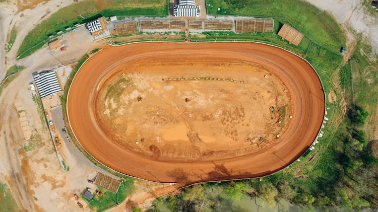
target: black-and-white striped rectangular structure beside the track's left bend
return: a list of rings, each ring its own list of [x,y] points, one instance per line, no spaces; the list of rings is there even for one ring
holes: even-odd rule
[[[61,91],[58,79],[56,78],[56,74],[53,70],[33,73],[33,78],[41,98]]]

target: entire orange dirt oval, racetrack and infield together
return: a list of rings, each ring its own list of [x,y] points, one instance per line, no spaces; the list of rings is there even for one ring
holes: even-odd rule
[[[313,68],[277,47],[138,43],[87,60],[67,106],[75,136],[98,161],[184,186],[287,167],[316,138],[324,101]]]

